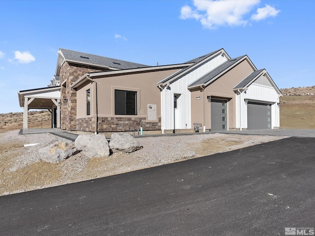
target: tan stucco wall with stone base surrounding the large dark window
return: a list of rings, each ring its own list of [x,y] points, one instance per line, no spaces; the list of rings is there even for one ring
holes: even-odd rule
[[[133,131],[140,127],[161,130],[160,89],[156,83],[176,71],[178,69],[93,78],[97,84],[97,132]],[[89,131],[87,127],[93,127],[93,124],[88,123],[95,122],[91,118],[96,117],[96,110],[86,116],[85,108],[87,89],[91,89],[91,109],[95,107],[95,83],[89,82],[77,90],[78,131]],[[137,115],[115,115],[115,89],[137,92]],[[148,104],[157,105],[157,119],[148,119]]]

